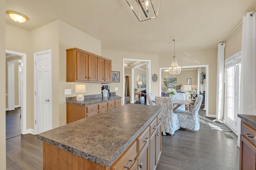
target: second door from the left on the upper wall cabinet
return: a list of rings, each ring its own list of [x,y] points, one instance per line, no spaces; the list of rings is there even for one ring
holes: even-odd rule
[[[97,57],[88,56],[88,81],[97,81]]]

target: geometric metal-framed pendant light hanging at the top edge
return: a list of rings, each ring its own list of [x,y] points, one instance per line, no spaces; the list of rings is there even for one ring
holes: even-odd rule
[[[156,18],[162,0],[126,0],[139,21]]]

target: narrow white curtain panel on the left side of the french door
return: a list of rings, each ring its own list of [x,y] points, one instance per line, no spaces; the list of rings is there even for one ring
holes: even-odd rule
[[[225,43],[218,44],[218,68],[217,68],[217,115],[214,121],[218,121],[223,123],[223,114],[224,114],[224,50],[225,50]]]

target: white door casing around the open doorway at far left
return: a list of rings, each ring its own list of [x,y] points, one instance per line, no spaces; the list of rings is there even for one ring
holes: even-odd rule
[[[27,98],[27,91],[26,91],[26,82],[27,82],[27,78],[26,78],[26,57],[27,55],[24,53],[19,53],[16,51],[10,51],[10,50],[6,50],[6,57],[12,57],[12,56],[20,56],[20,69],[21,69],[21,73],[20,73],[20,107],[22,109],[20,109],[20,114],[21,114],[21,134],[26,134],[28,133],[26,130],[26,98]],[[12,86],[12,83],[8,83],[8,86]],[[9,87],[7,87],[9,88]]]

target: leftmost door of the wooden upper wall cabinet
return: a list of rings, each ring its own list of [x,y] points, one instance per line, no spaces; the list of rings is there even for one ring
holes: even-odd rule
[[[88,81],[88,55],[77,51],[77,78],[76,80]]]

